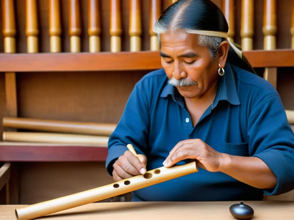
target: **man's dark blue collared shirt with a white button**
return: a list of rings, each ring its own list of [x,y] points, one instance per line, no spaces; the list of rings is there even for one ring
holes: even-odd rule
[[[222,172],[199,172],[132,192],[132,201],[262,200],[294,188],[294,134],[275,88],[262,77],[229,63],[213,104],[195,127],[163,69],[135,85],[108,142],[106,168],[132,144],[147,157],[147,170],[162,167],[170,150],[200,138],[219,152],[262,159],[278,178],[275,189],[256,189]],[[181,161],[178,165],[189,161]]]

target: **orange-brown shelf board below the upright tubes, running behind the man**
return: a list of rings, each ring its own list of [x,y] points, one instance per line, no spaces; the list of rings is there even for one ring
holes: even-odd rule
[[[253,67],[294,67],[294,50],[244,52]],[[162,68],[159,52],[0,54],[0,72],[121,71]]]

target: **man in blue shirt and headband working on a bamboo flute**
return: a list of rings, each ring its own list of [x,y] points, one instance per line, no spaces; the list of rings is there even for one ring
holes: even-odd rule
[[[132,192],[131,201],[262,200],[294,189],[294,134],[280,96],[227,37],[209,0],[158,19],[162,69],[142,77],[110,136],[114,181],[195,160],[199,172]],[[136,157],[126,145],[132,144]]]

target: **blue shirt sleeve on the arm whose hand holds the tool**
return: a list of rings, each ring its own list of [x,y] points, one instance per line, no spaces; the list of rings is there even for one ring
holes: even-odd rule
[[[138,81],[128,98],[116,129],[108,140],[106,170],[112,176],[113,163],[132,144],[137,154],[146,155],[149,131],[148,96],[144,81]]]

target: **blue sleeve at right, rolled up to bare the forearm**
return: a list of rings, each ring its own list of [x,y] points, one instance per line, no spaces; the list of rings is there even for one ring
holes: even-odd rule
[[[277,177],[266,195],[280,195],[294,189],[294,134],[280,96],[268,94],[253,108],[248,120],[250,156],[258,157]]]

